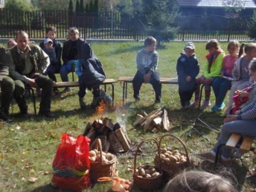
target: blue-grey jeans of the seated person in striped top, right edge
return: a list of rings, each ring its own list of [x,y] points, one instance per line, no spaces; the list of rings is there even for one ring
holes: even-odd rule
[[[225,123],[221,128],[221,135],[219,135],[218,142],[214,146],[213,151],[216,153],[218,146],[221,145],[221,143],[226,143],[232,133],[256,137],[255,123],[256,119],[237,120]],[[230,158],[231,149],[222,146],[221,152],[223,157]]]

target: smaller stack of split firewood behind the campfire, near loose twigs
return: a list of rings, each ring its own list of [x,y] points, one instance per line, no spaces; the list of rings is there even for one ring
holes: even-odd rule
[[[170,122],[168,114],[165,109],[157,109],[147,114],[145,111],[141,111],[141,114],[137,114],[137,117],[133,123],[133,126],[140,125],[144,131],[151,130],[152,133],[158,133],[158,131],[169,131]]]

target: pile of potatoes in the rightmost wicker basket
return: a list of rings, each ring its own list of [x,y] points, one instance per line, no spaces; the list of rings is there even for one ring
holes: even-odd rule
[[[165,159],[167,162],[173,162],[173,163],[185,163],[187,162],[187,158],[184,155],[181,155],[178,150],[167,150],[167,149],[161,149],[160,154],[161,159]]]

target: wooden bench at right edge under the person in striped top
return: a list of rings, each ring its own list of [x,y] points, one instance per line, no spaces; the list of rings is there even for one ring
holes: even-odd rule
[[[229,141],[226,143],[222,143],[218,146],[216,155],[215,155],[215,164],[218,163],[219,151],[221,147],[225,145],[225,147],[229,149],[238,148],[242,153],[248,153],[249,151],[253,151],[256,154],[256,147],[252,147],[254,137],[245,135],[244,137],[241,134],[233,133],[231,134]]]

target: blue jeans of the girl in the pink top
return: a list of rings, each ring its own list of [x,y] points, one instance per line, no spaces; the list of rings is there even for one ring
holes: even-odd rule
[[[231,87],[231,81],[227,81],[225,78],[217,77],[214,79],[213,84],[214,95],[215,95],[215,105],[221,107],[222,102],[224,101],[227,91]]]

